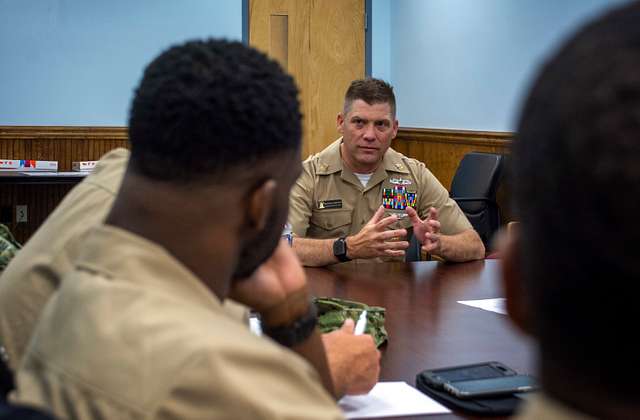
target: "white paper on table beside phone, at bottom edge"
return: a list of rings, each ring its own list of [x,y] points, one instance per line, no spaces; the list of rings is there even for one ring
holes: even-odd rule
[[[367,395],[347,395],[338,405],[348,419],[451,412],[406,382],[378,382]]]

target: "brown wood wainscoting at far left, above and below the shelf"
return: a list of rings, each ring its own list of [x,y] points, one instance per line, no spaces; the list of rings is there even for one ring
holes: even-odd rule
[[[71,162],[97,160],[111,149],[128,147],[126,127],[0,126],[0,158],[56,160],[59,171]],[[20,242],[26,240],[74,184],[0,183],[2,220]],[[27,223],[15,222],[15,206],[27,205]]]

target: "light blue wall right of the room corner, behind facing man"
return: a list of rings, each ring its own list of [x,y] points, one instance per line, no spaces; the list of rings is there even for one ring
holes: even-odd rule
[[[541,60],[585,18],[621,2],[393,0],[390,80],[400,125],[513,130]],[[374,17],[385,10],[382,4],[376,9],[374,3]],[[378,63],[373,74],[386,71]]]

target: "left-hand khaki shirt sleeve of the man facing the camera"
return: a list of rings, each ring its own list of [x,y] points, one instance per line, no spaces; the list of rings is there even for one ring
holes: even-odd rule
[[[309,219],[313,212],[313,190],[315,171],[310,160],[302,163],[302,174],[291,189],[289,196],[289,224],[296,236],[306,236]]]

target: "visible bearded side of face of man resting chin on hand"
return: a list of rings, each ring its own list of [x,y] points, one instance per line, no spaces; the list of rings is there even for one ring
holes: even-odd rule
[[[271,160],[273,162],[268,165],[272,167],[270,172],[277,182],[274,201],[264,230],[256,234],[255,241],[245,243],[241,250],[236,272],[233,275],[236,279],[249,277],[275,251],[287,222],[291,187],[302,171],[299,149],[282,153]]]

